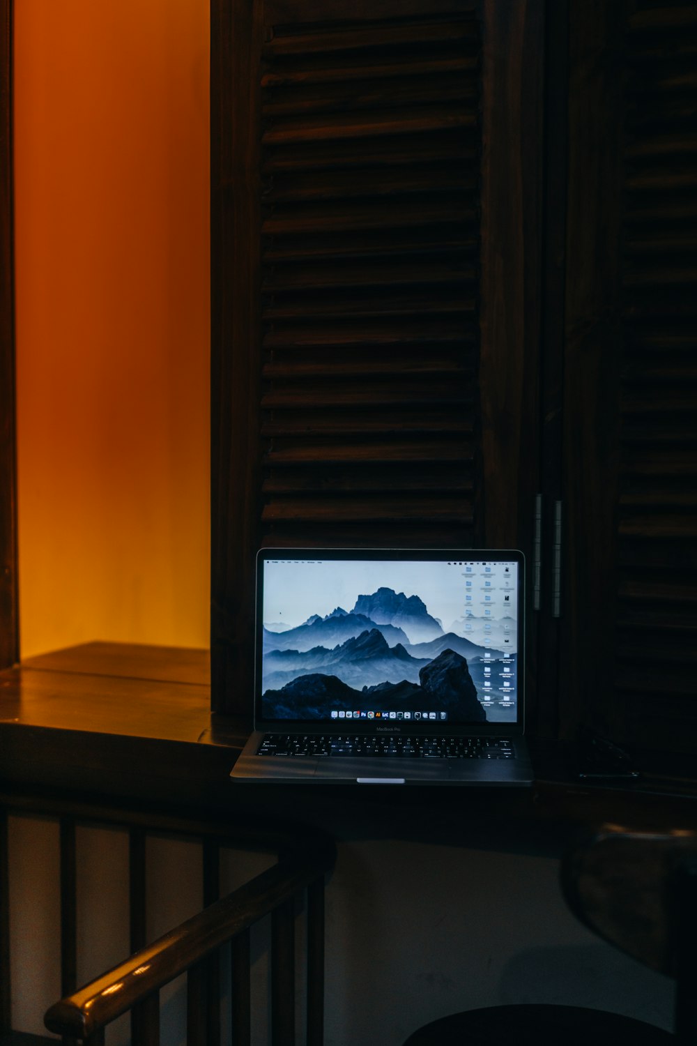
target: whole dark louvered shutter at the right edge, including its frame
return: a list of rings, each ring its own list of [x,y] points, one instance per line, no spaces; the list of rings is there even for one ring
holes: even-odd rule
[[[572,13],[562,720],[694,754],[697,5]]]

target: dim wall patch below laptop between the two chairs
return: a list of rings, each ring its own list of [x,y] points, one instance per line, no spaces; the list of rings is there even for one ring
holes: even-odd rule
[[[572,914],[556,857],[340,841],[327,892],[326,1046],[400,1046],[447,1014],[526,1002],[666,1028],[673,990]]]

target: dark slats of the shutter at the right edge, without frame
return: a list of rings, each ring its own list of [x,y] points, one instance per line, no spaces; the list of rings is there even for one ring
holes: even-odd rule
[[[694,753],[697,5],[637,4],[626,33],[618,713]]]

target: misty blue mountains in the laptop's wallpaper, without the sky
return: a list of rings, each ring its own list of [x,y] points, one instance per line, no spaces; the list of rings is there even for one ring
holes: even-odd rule
[[[502,680],[514,688],[515,655],[445,632],[418,596],[380,587],[351,610],[336,607],[277,629],[263,629],[264,719],[326,720],[332,710],[365,709],[444,711],[452,722],[515,718],[512,700],[509,708],[480,701]]]

